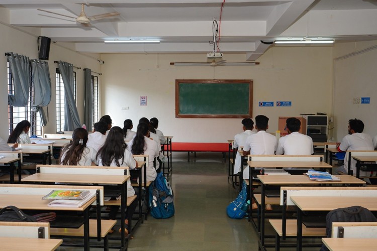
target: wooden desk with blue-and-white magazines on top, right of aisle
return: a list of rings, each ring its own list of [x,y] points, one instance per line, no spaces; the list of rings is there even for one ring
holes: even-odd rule
[[[310,163],[310,162],[308,162]],[[295,185],[312,185],[317,186],[321,184],[353,184],[353,185],[363,185],[366,182],[351,175],[336,175],[340,178],[340,181],[325,181],[325,182],[318,182],[315,180],[309,179],[307,175],[257,175],[258,179],[262,184],[261,189],[261,210],[260,210],[260,238],[262,245],[264,245],[264,230],[265,230],[265,194],[266,194],[266,187],[267,186],[295,186]],[[285,209],[283,208],[283,213],[285,213]],[[284,217],[285,218],[285,217]],[[258,219],[259,220],[259,219]],[[259,222],[258,222],[259,226]],[[285,233],[283,234],[285,236]]]

